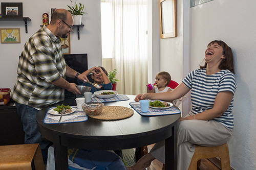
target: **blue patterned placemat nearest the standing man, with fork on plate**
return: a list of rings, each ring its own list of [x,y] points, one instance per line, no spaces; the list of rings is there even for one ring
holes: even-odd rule
[[[56,107],[51,107],[50,109],[48,109],[48,111],[46,113],[44,123],[45,124],[66,124],[66,123],[84,122],[84,121],[88,120],[88,117],[87,117],[86,113],[84,113],[82,109],[77,109],[76,106],[71,106],[71,107],[75,108],[76,111],[74,113],[68,114],[67,116],[72,116],[73,115],[73,116],[77,116],[77,117],[72,118],[70,120],[66,120],[65,122],[59,123],[58,120],[51,119],[51,117],[55,117],[55,115],[52,115],[48,112],[49,112],[49,110],[51,110],[53,108],[56,108]]]

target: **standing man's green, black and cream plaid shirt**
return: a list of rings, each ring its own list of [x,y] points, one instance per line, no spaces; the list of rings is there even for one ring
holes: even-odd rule
[[[65,79],[66,74],[60,38],[46,26],[30,37],[20,55],[17,74],[14,101],[40,110],[64,100],[64,89],[51,84],[60,77]]]

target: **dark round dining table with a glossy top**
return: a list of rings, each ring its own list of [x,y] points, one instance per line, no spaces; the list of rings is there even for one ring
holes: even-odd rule
[[[104,106],[124,106],[133,109],[135,95],[126,95],[127,101],[104,103]],[[87,150],[122,150],[136,148],[136,159],[143,154],[141,148],[165,140],[165,169],[177,169],[177,131],[180,114],[142,116],[134,114],[121,120],[99,120],[88,117],[85,122],[45,124],[50,107],[75,106],[74,98],[41,109],[36,120],[42,136],[54,143],[55,168],[68,169],[67,147]],[[175,106],[174,106],[175,107]],[[140,149],[140,150],[139,150]]]

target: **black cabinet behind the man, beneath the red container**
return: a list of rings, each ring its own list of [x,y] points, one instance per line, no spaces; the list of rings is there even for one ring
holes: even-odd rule
[[[0,145],[24,144],[24,131],[15,102],[0,105]]]

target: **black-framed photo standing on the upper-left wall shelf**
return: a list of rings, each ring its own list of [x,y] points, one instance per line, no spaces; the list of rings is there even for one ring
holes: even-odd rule
[[[22,3],[1,3],[3,18],[22,18]]]

